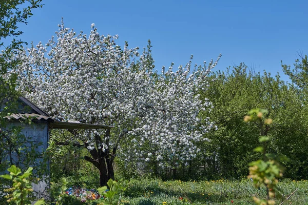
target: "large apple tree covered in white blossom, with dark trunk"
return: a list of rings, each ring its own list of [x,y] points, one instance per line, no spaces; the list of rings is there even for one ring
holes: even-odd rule
[[[208,118],[198,118],[211,104],[197,93],[208,86],[208,72],[220,56],[193,72],[189,61],[176,72],[171,65],[158,74],[150,44],[139,56],[138,48],[122,49],[117,38],[100,35],[94,24],[89,36],[76,34],[62,22],[47,44],[16,56],[22,61],[18,89],[55,119],[114,125],[111,132],[84,131],[70,139],[89,151],[85,159],[100,170],[101,186],[113,178],[115,153],[127,154],[121,144],[164,166],[196,156],[196,142],[206,140],[204,132],[213,127]]]

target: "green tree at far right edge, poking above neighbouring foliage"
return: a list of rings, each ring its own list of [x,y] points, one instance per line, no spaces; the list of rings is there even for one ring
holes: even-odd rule
[[[290,86],[296,90],[297,99],[293,104],[292,114],[284,116],[284,119],[289,119],[289,121],[285,120],[285,125],[295,129],[284,129],[284,132],[281,132],[281,136],[285,136],[287,133],[297,137],[290,138],[284,144],[281,143],[281,147],[284,148],[284,152],[288,151],[290,154],[290,163],[287,165],[286,172],[290,171],[293,178],[302,179],[306,178],[308,173],[306,162],[308,150],[304,146],[308,140],[308,57],[299,53],[299,58],[295,60],[294,67],[285,64],[281,66],[283,72],[292,80]]]

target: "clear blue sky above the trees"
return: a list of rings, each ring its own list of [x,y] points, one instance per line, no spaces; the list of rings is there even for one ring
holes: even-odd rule
[[[222,58],[215,70],[244,62],[256,71],[279,72],[308,54],[307,1],[99,1],[47,0],[33,12],[22,39],[47,43],[64,17],[65,26],[89,33],[119,34],[118,44],[152,42],[156,69],[171,62],[194,64]]]

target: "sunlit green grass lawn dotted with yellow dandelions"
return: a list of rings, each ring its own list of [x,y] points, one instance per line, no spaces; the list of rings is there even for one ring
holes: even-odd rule
[[[308,181],[282,180],[278,183],[276,204],[308,204]],[[241,181],[162,181],[131,179],[122,198],[123,204],[254,204],[253,196],[265,198],[265,189],[255,189],[250,180]],[[100,204],[102,200],[91,201]]]

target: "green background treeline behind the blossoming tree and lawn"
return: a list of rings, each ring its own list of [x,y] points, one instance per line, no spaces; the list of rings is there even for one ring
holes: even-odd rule
[[[269,152],[286,156],[285,178],[306,179],[308,176],[308,117],[306,109],[307,57],[296,60],[295,68],[282,65],[292,83],[281,80],[279,74],[255,72],[244,64],[210,74],[210,86],[200,91],[201,96],[213,103],[210,113],[200,113],[200,118],[210,117],[218,129],[209,132],[200,144],[201,152],[196,158],[176,162],[171,167],[159,168],[154,161],[129,160],[118,156],[115,162],[116,178],[158,176],[163,179],[239,179],[248,174],[248,163],[258,159],[253,149],[258,146],[258,127],[245,123],[243,116],[254,108],[268,110],[266,118],[273,119],[267,130],[272,141]],[[127,139],[127,141],[129,141]],[[128,149],[124,146],[121,149]],[[73,147],[55,148],[51,160],[51,173],[71,176],[82,182],[91,180],[98,173],[82,160],[82,150]],[[127,156],[126,156],[127,157]],[[89,172],[89,169],[91,171]],[[90,173],[90,174],[89,174]],[[87,177],[83,177],[83,176]]]

